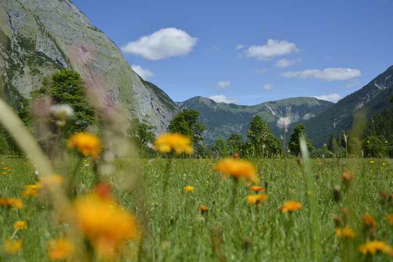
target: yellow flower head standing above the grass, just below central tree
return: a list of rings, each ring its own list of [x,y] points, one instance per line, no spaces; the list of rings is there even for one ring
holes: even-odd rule
[[[181,134],[161,134],[154,141],[154,149],[160,153],[169,153],[174,150],[176,154],[183,152],[191,155],[194,152],[191,139]]]

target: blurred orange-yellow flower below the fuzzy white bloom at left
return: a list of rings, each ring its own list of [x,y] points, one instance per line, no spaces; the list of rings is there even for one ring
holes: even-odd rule
[[[69,149],[78,148],[84,156],[94,158],[98,158],[101,153],[100,139],[96,135],[84,132],[72,135],[67,141],[67,147]]]

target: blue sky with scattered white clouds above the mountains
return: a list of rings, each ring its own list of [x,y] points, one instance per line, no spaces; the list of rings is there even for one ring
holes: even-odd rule
[[[393,0],[73,1],[174,101],[337,101],[393,65]]]

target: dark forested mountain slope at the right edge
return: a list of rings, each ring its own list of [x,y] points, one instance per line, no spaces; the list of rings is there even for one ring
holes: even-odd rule
[[[372,117],[377,112],[389,108],[392,94],[393,66],[358,91],[338,101],[317,118],[304,121],[307,135],[314,146],[322,146],[328,143],[331,134],[351,128],[355,111],[365,110],[366,116]]]

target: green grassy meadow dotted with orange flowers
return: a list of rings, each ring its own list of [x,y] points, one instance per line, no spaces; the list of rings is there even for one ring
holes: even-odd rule
[[[68,161],[74,165],[77,162]],[[116,163],[121,169],[126,162]],[[390,159],[313,159],[314,192],[307,191],[304,168],[296,159],[254,159],[268,201],[247,203],[247,195],[253,192],[250,185],[241,182],[235,206],[233,181],[222,180],[212,170],[215,162],[174,160],[164,196],[167,159],[141,159],[140,187],[114,190],[119,203],[138,214],[145,228],[141,261],[362,261],[370,259],[359,251],[367,240],[375,238],[393,244],[393,226],[386,219],[393,213],[393,202],[388,197],[385,203],[381,197],[381,191],[388,196],[392,193]],[[92,167],[89,160],[83,162],[78,172],[79,192],[92,186]],[[61,165],[57,168],[61,173]],[[22,198],[22,187],[35,182],[34,170],[26,159],[0,157],[0,197]],[[348,188],[342,183],[344,172],[354,174]],[[132,179],[130,170],[125,174]],[[186,193],[187,185],[194,186],[194,190]],[[338,203],[333,197],[336,185],[341,188]],[[318,228],[310,222],[308,198],[312,194],[317,198]],[[13,256],[2,254],[0,261],[47,261],[47,242],[67,231],[67,225],[54,223],[52,207],[40,197],[22,199],[23,209],[0,207],[1,242],[14,233],[14,222],[24,220],[28,225],[14,235],[23,241],[23,248]],[[287,200],[299,201],[303,208],[282,213],[280,206]],[[209,211],[202,214],[200,204]],[[342,212],[343,208],[346,211]],[[363,224],[365,214],[374,217],[376,231]],[[337,237],[335,215],[347,218],[356,233],[354,239]],[[320,231],[320,249],[309,238],[315,231]],[[131,243],[121,261],[138,260],[138,246]],[[390,259],[384,253],[373,256],[373,261]]]

